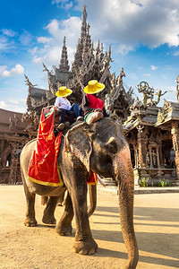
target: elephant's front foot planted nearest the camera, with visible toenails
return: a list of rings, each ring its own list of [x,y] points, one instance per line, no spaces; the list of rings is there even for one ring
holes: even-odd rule
[[[86,239],[85,241],[75,241],[72,251],[81,255],[91,255],[97,251],[98,245],[94,239]]]

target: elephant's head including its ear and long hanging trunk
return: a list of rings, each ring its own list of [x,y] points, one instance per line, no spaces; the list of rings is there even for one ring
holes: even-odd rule
[[[129,256],[127,268],[135,268],[138,247],[133,230],[134,180],[122,126],[108,117],[90,126],[82,123],[68,131],[65,145],[66,151],[72,152],[88,171],[92,169],[101,176],[114,178],[118,184],[121,225]]]

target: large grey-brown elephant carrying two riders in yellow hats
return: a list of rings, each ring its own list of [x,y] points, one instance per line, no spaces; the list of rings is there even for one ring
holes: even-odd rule
[[[36,140],[30,141],[21,152],[21,178],[27,200],[24,224],[37,225],[34,210],[36,194],[50,196],[43,221],[55,221],[55,204],[58,196],[67,189],[64,213],[55,230],[61,236],[72,234],[74,215],[76,234],[73,252],[94,254],[98,245],[90,231],[86,182],[91,169],[101,177],[113,178],[118,186],[121,227],[128,252],[126,268],[135,268],[139,252],[133,227],[134,177],[130,149],[121,124],[110,117],[103,117],[90,125],[76,122],[64,131],[58,166],[65,187],[43,186],[28,179],[28,167],[35,143]]]

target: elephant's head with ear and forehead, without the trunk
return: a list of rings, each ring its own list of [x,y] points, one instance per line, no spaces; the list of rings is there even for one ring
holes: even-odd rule
[[[114,178],[116,182],[120,178],[118,159],[126,158],[126,152],[129,153],[122,126],[111,118],[103,118],[92,125],[74,126],[65,135],[65,146],[88,171],[92,169],[101,176]]]

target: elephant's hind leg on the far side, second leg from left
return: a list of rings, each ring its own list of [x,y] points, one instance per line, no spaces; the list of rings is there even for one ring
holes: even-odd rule
[[[58,196],[50,196],[47,202],[47,206],[44,210],[44,216],[42,218],[42,221],[46,224],[55,224],[55,207],[56,203],[58,201]]]

